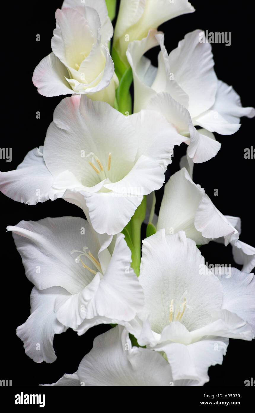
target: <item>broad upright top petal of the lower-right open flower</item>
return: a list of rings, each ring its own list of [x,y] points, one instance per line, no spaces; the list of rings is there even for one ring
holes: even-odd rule
[[[150,315],[154,332],[161,334],[169,325],[170,306],[176,316],[183,297],[187,309],[182,323],[189,331],[210,322],[211,312],[220,308],[222,286],[215,275],[201,269],[205,269],[204,257],[183,231],[165,235],[160,230],[143,240],[139,275],[145,294],[143,317]]]

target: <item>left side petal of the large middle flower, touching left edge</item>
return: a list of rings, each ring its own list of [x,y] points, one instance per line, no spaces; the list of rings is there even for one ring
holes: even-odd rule
[[[53,176],[45,165],[42,147],[28,152],[15,171],[0,173],[0,190],[7,197],[28,205],[49,199]]]

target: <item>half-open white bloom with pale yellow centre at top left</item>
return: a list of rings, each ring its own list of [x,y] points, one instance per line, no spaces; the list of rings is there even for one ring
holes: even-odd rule
[[[113,28],[104,0],[67,1],[56,11],[52,53],[35,68],[33,83],[44,96],[85,93],[113,105],[118,79],[108,50]]]

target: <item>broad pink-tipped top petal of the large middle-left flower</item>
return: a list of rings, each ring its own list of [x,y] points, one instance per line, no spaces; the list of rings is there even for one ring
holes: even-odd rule
[[[114,182],[131,170],[137,148],[136,131],[126,116],[105,102],[75,95],[63,99],[54,111],[45,139],[44,159],[54,177],[68,170],[83,185],[91,187],[98,183],[98,177],[86,158],[90,152],[94,152],[106,171],[109,153],[112,154],[109,173]]]

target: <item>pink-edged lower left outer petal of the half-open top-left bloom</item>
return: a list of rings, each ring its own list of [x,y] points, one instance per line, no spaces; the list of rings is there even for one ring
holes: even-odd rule
[[[68,77],[66,66],[50,53],[36,66],[33,73],[33,84],[43,96],[59,96],[73,93],[66,81]]]

